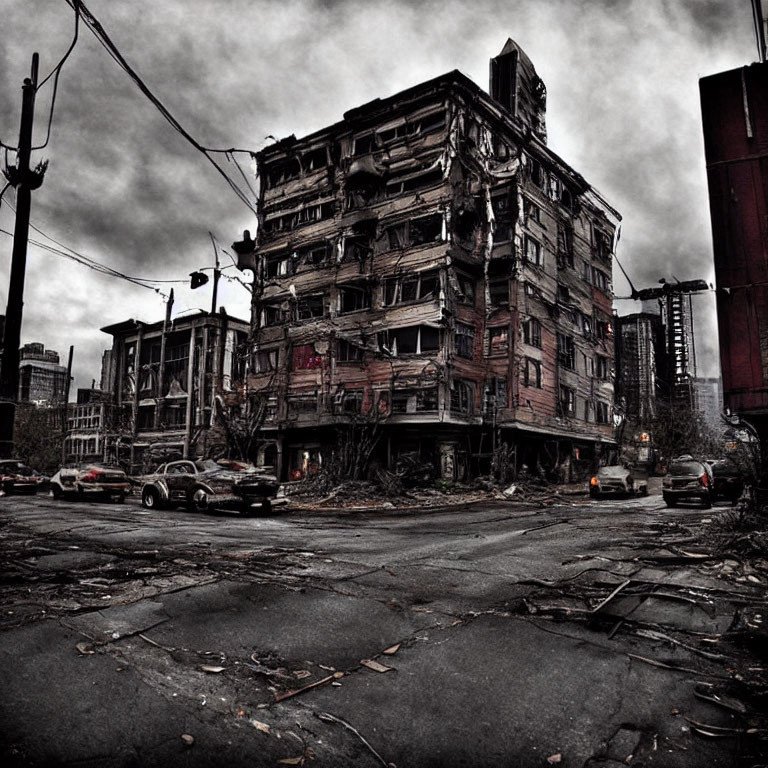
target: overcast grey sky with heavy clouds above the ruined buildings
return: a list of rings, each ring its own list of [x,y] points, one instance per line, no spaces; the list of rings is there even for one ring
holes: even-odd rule
[[[208,147],[258,150],[269,135],[302,136],[453,69],[487,88],[488,59],[512,37],[546,83],[550,147],[623,216],[618,257],[635,286],[673,275],[714,280],[698,79],[755,60],[750,0],[86,4]],[[15,145],[32,53],[40,53],[42,79],[71,41],[74,12],[65,0],[0,0],[0,19],[0,141]],[[38,94],[36,144],[44,140],[51,85]],[[239,157],[249,173],[247,157]],[[209,230],[228,247],[254,229],[248,208],[84,25],[61,72],[50,143],[33,156],[42,158],[50,166],[33,193],[32,223],[125,274],[187,279],[213,264]],[[11,191],[0,229],[12,231],[6,200],[14,203]],[[11,245],[0,233],[0,313]],[[240,276],[234,268],[224,274]],[[614,282],[616,295],[627,295],[616,267]],[[210,283],[173,287],[174,316],[210,309]],[[249,316],[248,292],[235,281],[222,280],[218,303]],[[700,375],[719,373],[713,308],[711,295],[695,301]],[[92,379],[98,386],[111,342],[99,328],[161,320],[164,312],[153,290],[30,247],[22,342],[41,341],[64,363],[73,344],[75,386]]]

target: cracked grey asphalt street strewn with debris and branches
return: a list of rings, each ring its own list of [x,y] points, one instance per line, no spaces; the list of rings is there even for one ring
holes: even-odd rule
[[[766,764],[768,574],[659,496],[0,499],[4,765]]]

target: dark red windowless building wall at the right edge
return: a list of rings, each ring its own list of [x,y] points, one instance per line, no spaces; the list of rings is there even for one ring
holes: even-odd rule
[[[725,407],[768,444],[768,62],[699,81]]]

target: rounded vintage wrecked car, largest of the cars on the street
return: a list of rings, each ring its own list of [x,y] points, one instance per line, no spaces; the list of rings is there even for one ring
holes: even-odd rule
[[[280,484],[274,475],[204,461],[171,461],[143,478],[141,503],[147,509],[186,506],[192,512],[233,510],[268,514]]]

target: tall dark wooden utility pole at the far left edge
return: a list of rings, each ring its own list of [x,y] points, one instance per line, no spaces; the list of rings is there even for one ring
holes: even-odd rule
[[[32,154],[32,124],[37,91],[37,53],[32,54],[32,72],[21,88],[21,126],[16,167],[8,169],[8,181],[16,188],[16,223],[13,231],[11,278],[8,285],[8,305],[5,311],[2,363],[0,365],[0,458],[13,454],[13,422],[19,396],[19,346],[21,318],[24,306],[24,276],[27,265],[29,212],[32,190],[43,182],[44,166],[34,171],[29,167]]]

